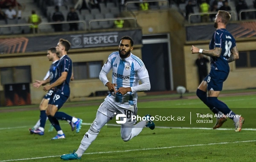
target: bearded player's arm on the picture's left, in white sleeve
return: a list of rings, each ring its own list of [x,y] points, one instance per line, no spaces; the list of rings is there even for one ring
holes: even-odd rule
[[[107,60],[106,63],[103,65],[102,70],[101,70],[100,73],[99,73],[99,80],[101,80],[102,83],[103,83],[106,87],[108,87],[108,90],[109,90],[110,92],[116,93],[116,89],[115,89],[116,84],[110,83],[110,82],[108,81],[108,77],[107,77],[107,74],[108,74],[108,72],[109,72],[111,69],[112,69],[111,61],[110,61],[109,58],[108,58],[108,60]]]

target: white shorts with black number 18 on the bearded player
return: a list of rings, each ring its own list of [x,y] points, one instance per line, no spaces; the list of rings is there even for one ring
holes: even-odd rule
[[[118,104],[118,105],[117,105]],[[115,103],[110,99],[106,98],[105,101],[99,106],[98,111],[103,113],[105,116],[113,119],[117,114],[125,114],[126,122],[122,125],[130,126],[136,124],[137,120],[131,119],[131,116],[137,116],[137,104],[129,105],[129,104],[121,104]],[[114,118],[114,120],[123,121],[124,118],[120,117],[120,119]]]

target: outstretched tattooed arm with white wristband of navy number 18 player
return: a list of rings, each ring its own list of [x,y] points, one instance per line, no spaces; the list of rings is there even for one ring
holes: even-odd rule
[[[222,49],[219,48],[219,47],[215,47],[214,49],[211,49],[211,50],[199,49],[195,46],[192,46],[192,48],[191,48],[192,54],[201,53],[201,54],[206,55],[206,56],[217,57],[217,58],[221,56],[221,50]]]

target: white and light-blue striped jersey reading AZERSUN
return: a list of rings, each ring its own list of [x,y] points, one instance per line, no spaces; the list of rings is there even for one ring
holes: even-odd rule
[[[112,69],[112,83],[117,84],[116,91],[120,87],[135,87],[139,81],[149,78],[148,71],[137,56],[131,55],[128,58],[120,58],[119,52],[113,52],[109,55],[107,62],[102,70],[108,73]],[[134,105],[137,104],[137,93],[128,92],[122,94],[109,94],[108,98],[117,103]]]

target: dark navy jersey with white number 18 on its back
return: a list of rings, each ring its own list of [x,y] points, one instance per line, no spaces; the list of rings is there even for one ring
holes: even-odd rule
[[[209,44],[209,49],[214,49],[215,47],[221,48],[221,56],[211,57],[211,69],[230,72],[230,67],[228,65],[228,59],[230,58],[230,50],[236,46],[236,40],[226,29],[218,29],[212,35],[212,40]]]

